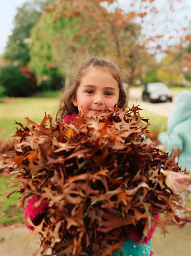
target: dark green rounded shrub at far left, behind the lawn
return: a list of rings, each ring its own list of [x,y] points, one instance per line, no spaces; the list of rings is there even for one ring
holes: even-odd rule
[[[5,88],[5,95],[11,97],[27,97],[37,90],[36,81],[26,78],[15,66],[2,67],[0,84]]]

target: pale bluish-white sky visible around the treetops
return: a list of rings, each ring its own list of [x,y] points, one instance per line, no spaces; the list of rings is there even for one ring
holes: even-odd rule
[[[14,28],[14,16],[17,7],[22,6],[24,2],[27,2],[27,0],[0,0],[0,54],[4,52],[8,36]],[[129,3],[132,3],[132,0],[118,0],[118,2],[121,4],[121,8],[129,11]],[[168,10],[167,2],[174,3],[175,12]],[[143,30],[144,34],[155,35],[164,32],[165,37],[162,38],[159,43],[164,47],[170,43],[168,40],[170,35],[173,35],[173,41],[171,41],[171,43],[178,43],[179,36],[183,33],[182,26],[189,26],[184,17],[187,16],[188,20],[191,20],[191,0],[156,0],[155,6],[160,10],[159,14],[153,16],[154,18],[152,15],[147,15],[147,18],[150,19],[147,21],[150,24],[155,24],[154,29],[146,25]],[[137,8],[139,8],[139,6],[137,6]],[[167,19],[173,21],[170,21],[167,25]]]

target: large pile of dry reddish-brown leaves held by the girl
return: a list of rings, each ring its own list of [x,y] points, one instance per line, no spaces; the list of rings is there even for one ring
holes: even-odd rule
[[[12,192],[21,194],[19,207],[30,196],[38,196],[36,207],[49,201],[38,226],[27,219],[34,227],[31,236],[40,234],[42,253],[51,248],[53,255],[112,255],[127,238],[122,227],[98,231],[107,214],[115,227],[120,217],[135,226],[144,219],[142,239],[156,224],[157,213],[179,221],[178,194],[191,178],[175,163],[179,151],[168,158],[144,142],[149,122],[138,107],[115,107],[97,120],[80,114],[76,123],[53,124],[46,114],[40,125],[26,119],[26,127],[17,123],[20,140],[6,168],[17,173],[13,186],[19,189]]]

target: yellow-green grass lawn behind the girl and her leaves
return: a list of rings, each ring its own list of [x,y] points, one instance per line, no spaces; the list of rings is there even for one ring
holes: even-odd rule
[[[0,104],[0,140],[10,139],[15,133],[16,125],[14,120],[26,124],[24,117],[28,116],[33,121],[40,123],[44,117],[45,111],[47,114],[54,114],[58,106],[58,94],[48,94],[46,98],[5,98],[5,101]],[[166,130],[167,118],[157,116],[149,111],[141,110],[141,116],[150,119],[151,128],[159,131]],[[11,181],[8,178],[0,177],[0,196],[5,195],[8,190],[6,184]],[[0,223],[12,224],[14,222],[23,222],[23,209],[17,210],[12,203],[18,200],[19,195],[13,194],[11,197],[0,203]]]

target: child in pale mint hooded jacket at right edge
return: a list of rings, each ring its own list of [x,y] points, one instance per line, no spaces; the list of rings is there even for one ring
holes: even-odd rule
[[[165,146],[169,154],[172,149],[180,149],[179,166],[191,171],[191,92],[182,91],[174,104],[168,118],[168,133],[161,133],[158,140]],[[181,194],[185,200],[185,193]],[[183,210],[179,216],[185,218]],[[185,222],[182,222],[182,226]]]

